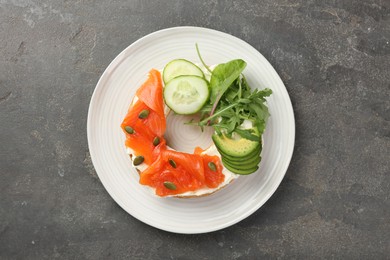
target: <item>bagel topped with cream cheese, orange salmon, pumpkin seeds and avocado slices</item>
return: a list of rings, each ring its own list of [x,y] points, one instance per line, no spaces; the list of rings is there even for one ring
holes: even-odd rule
[[[210,79],[207,70],[203,70],[203,73],[205,78]],[[121,125],[126,134],[126,152],[132,166],[139,173],[140,184],[153,194],[177,198],[208,196],[226,187],[240,175],[250,174],[258,169],[262,136],[261,133],[257,135],[260,138],[257,142],[250,141],[251,138],[256,138],[253,134],[247,134],[249,139],[242,138],[241,133],[233,133],[229,138],[214,134],[213,142],[206,150],[194,147],[193,154],[175,151],[166,143],[164,136],[171,105],[166,105],[162,93],[164,88],[165,92],[168,91],[170,82],[179,78],[181,77],[169,81],[165,88],[161,72],[154,69],[149,72],[148,80],[137,89]],[[241,132],[252,133],[256,127],[252,121],[244,120],[239,128]],[[228,143],[231,147],[238,144],[238,148],[223,150],[221,147]],[[247,146],[253,143],[256,146]],[[248,165],[241,168],[241,159],[244,158]]]

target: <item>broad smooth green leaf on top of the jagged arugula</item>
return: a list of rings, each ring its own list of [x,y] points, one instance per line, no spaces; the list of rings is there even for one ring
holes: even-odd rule
[[[232,60],[227,63],[222,63],[216,66],[211,74],[210,88],[211,96],[210,103],[218,104],[222,95],[230,85],[240,76],[245,69],[246,62],[240,59]]]

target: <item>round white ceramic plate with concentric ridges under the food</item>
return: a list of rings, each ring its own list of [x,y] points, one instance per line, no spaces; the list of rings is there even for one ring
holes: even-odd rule
[[[252,87],[271,88],[271,118],[264,134],[260,169],[207,197],[158,198],[138,183],[120,124],[136,89],[151,68],[176,58],[198,62],[198,43],[208,64],[241,58]],[[169,128],[169,125],[167,126]],[[88,111],[88,145],[101,182],[133,217],[175,233],[205,233],[231,226],[259,209],[282,181],[293,153],[295,122],[290,98],[271,64],[248,43],[219,31],[175,27],[149,34],[122,51],[101,76]],[[98,202],[96,202],[98,203]]]

